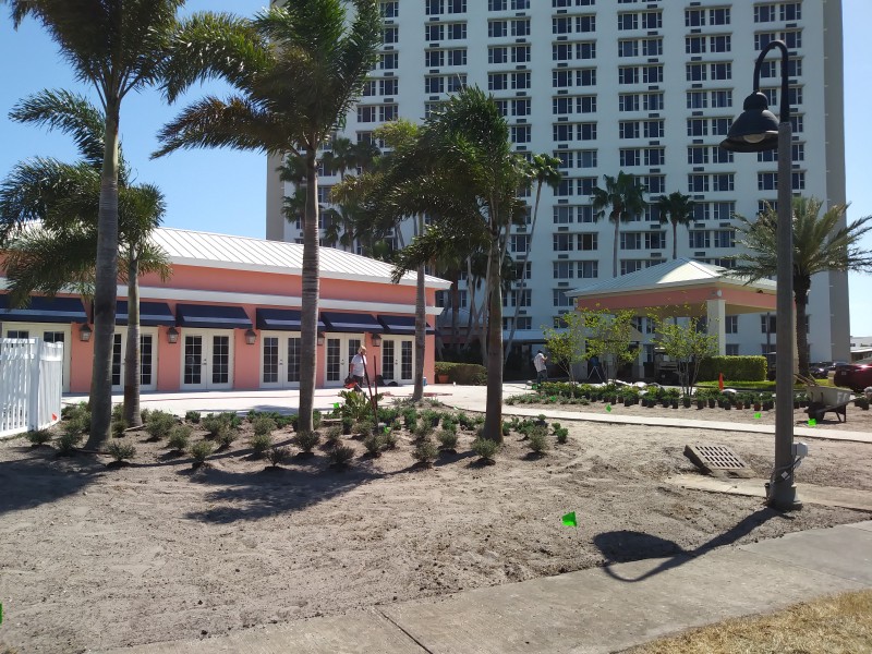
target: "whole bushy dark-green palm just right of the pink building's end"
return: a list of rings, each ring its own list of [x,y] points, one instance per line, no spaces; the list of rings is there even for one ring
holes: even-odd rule
[[[446,247],[486,244],[487,400],[483,435],[502,439],[502,259],[512,222],[525,217],[517,198],[526,161],[512,153],[509,128],[493,98],[477,87],[432,114],[408,152],[383,202],[405,214],[429,214],[429,229],[398,255],[395,277],[436,258]]]

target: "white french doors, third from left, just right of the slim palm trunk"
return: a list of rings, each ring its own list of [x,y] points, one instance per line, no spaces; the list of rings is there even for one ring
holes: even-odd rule
[[[233,387],[232,330],[184,330],[181,387],[183,390]]]

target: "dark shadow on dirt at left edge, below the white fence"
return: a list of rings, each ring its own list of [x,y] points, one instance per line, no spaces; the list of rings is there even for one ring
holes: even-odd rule
[[[0,516],[74,495],[96,482],[106,465],[94,457],[58,457],[50,447],[31,448],[24,459],[0,462]]]

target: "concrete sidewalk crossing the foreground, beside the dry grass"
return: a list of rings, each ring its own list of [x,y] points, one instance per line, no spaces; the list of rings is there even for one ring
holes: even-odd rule
[[[872,589],[872,521],[114,654],[595,654]]]

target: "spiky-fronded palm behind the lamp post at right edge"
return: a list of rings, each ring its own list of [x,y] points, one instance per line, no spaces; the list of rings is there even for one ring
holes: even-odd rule
[[[799,372],[804,376],[809,376],[807,308],[812,276],[831,270],[872,271],[872,251],[863,250],[860,243],[872,231],[872,216],[847,223],[848,205],[833,205],[821,215],[822,207],[823,202],[815,197],[794,198],[794,302]],[[736,218],[747,252],[737,257],[732,272],[747,276],[749,281],[774,277],[778,267],[777,211],[767,205],[756,221]]]

